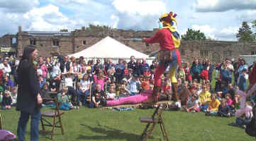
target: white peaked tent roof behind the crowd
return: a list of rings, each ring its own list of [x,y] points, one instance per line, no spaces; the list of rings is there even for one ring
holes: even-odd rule
[[[148,58],[148,55],[143,54],[140,51],[136,51],[135,49],[131,49],[130,47],[127,47],[125,44],[122,44],[111,37],[105,37],[91,47],[75,54],[70,54],[69,56],[74,56],[75,58],[84,56],[85,58],[109,59],[130,59],[130,56],[135,56],[137,59]]]

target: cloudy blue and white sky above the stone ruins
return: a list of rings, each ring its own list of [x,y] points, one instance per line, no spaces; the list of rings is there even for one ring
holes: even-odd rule
[[[243,21],[256,19],[256,0],[1,0],[0,35],[23,30],[74,30],[89,23],[124,30],[152,30],[162,13],[177,13],[181,34],[201,30],[236,40]]]

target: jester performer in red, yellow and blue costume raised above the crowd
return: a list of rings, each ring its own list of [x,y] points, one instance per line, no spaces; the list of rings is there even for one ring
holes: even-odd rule
[[[160,92],[160,77],[165,70],[169,66],[169,78],[172,81],[172,100],[179,100],[177,94],[177,78],[175,77],[175,73],[177,70],[177,65],[181,65],[181,58],[179,54],[179,33],[173,26],[174,22],[177,24],[176,13],[165,13],[161,16],[160,22],[162,22],[162,29],[158,30],[157,33],[150,38],[143,39],[143,42],[152,44],[159,43],[160,44],[160,55],[159,55],[159,65],[155,71],[155,83],[154,90],[152,96],[153,101],[157,102],[157,94]]]

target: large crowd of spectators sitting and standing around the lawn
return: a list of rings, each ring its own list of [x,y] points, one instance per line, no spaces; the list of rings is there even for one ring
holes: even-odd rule
[[[149,66],[145,59],[135,59],[134,56],[129,62],[119,59],[118,63],[113,63],[111,59],[104,59],[102,63],[97,59],[94,63],[93,60],[84,61],[83,57],[40,56],[34,63],[42,97],[48,97],[48,92],[57,92],[60,109],[63,110],[78,109],[83,105],[91,108],[105,106],[107,100],[150,90],[157,67],[157,61],[152,61]],[[11,109],[16,105],[17,66],[18,59],[1,59],[1,109]],[[187,112],[204,111],[206,115],[233,116],[240,106],[240,96],[235,90],[245,92],[251,68],[240,58],[238,61],[225,59],[215,65],[208,59],[199,61],[198,58],[194,58],[191,65],[184,63],[183,67],[177,68],[181,106]],[[161,80],[161,94],[169,100],[172,84],[167,74],[162,75]],[[247,106],[254,106],[255,103],[253,94]],[[43,106],[54,106],[54,103],[44,102]]]

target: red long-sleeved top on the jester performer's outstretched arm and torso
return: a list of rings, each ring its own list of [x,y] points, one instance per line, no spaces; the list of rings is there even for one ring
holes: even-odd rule
[[[158,30],[157,33],[150,38],[144,39],[147,43],[159,43],[161,50],[172,50],[175,49],[174,42],[172,39],[172,32],[167,28],[162,28]]]

